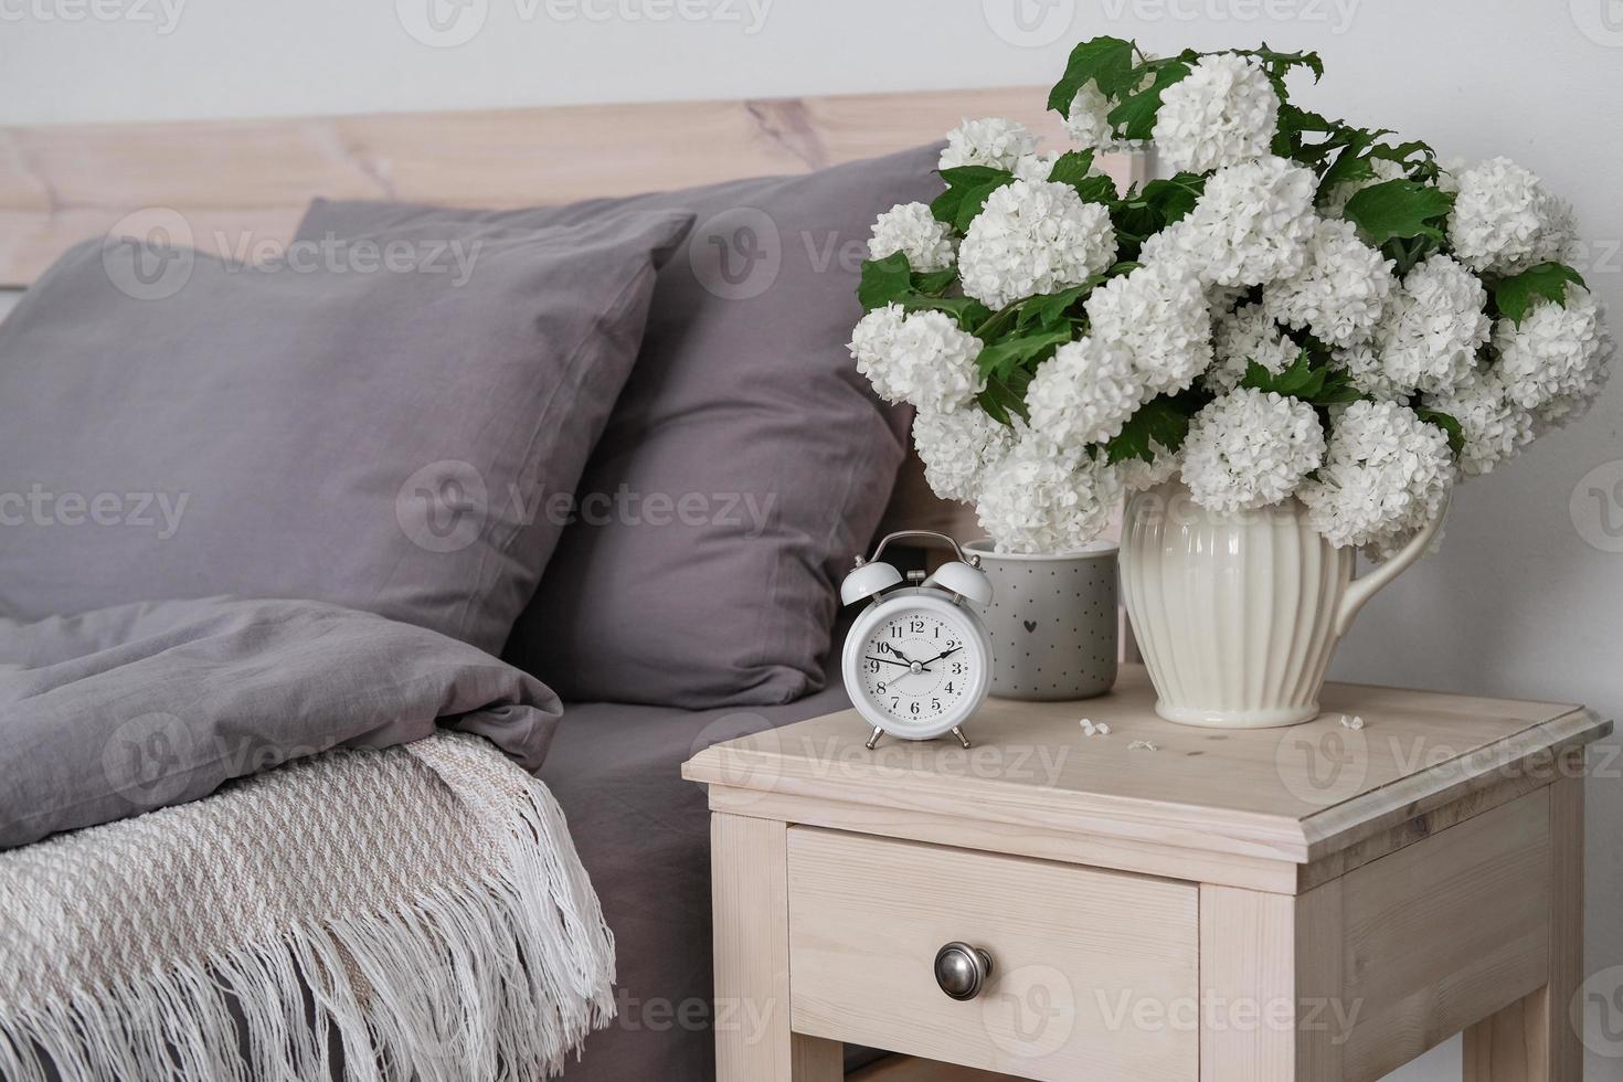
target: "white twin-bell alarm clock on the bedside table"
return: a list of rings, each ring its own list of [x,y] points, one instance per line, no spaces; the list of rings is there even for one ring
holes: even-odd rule
[[[958,561],[941,565],[930,577],[914,573],[919,584],[901,586],[901,573],[880,563],[885,547],[899,537],[945,540]],[[846,636],[841,672],[852,706],[873,725],[868,748],[885,733],[907,740],[953,733],[967,748],[962,723],[992,685],[992,641],[967,605],[992,602],[992,581],[980,569],[980,556],[966,558],[945,534],[891,534],[870,560],[857,556],[857,566],[839,584],[842,605],[865,597],[873,603]]]

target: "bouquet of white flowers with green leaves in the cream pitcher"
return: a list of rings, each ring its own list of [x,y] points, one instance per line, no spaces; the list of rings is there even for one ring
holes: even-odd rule
[[[966,120],[946,190],[875,222],[857,368],[917,407],[932,488],[1000,548],[1078,548],[1182,477],[1391,550],[1600,391],[1571,208],[1505,157],[1449,170],[1290,104],[1294,68],[1323,75],[1096,37],[1048,97],[1074,148]],[[1177,172],[1121,193],[1094,156],[1143,140]]]

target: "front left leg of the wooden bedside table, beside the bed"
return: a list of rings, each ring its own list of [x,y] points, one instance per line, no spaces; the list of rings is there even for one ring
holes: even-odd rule
[[[711,814],[717,1082],[839,1082],[839,1041],[789,1028],[789,829]]]

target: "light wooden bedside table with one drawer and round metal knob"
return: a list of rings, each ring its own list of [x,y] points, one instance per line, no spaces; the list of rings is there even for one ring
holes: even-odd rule
[[[1185,728],[1128,665],[1099,699],[988,699],[969,751],[867,751],[847,711],[696,754],[717,1077],[831,1082],[859,1041],[1024,1079],[1341,1082],[1466,1030],[1474,1082],[1574,1082],[1582,756],[1612,723],[1321,701]],[[954,942],[969,999],[938,986]]]

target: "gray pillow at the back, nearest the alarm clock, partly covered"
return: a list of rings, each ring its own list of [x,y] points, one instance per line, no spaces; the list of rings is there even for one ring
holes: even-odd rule
[[[834,582],[873,534],[906,417],[846,342],[875,216],[930,200],[938,148],[524,211],[315,203],[302,238],[691,208],[643,355],[506,659],[566,701],[717,707],[823,685]]]

